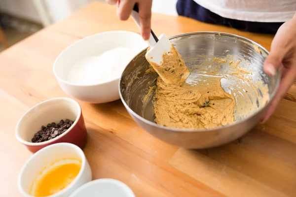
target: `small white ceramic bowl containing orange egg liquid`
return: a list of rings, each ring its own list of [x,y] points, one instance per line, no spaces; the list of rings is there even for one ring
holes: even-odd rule
[[[21,194],[24,197],[34,197],[30,195],[30,190],[35,178],[40,178],[42,173],[46,172],[46,169],[56,166],[51,165],[53,162],[60,160],[58,164],[73,163],[69,158],[81,160],[81,168],[78,175],[64,190],[48,197],[69,197],[75,189],[91,181],[91,169],[83,151],[78,146],[71,143],[57,143],[39,150],[24,164],[19,173],[17,182]],[[44,167],[47,168],[44,170]],[[41,171],[42,173],[38,174]]]

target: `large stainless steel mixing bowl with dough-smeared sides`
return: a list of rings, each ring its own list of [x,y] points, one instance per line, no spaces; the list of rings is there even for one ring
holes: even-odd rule
[[[154,122],[152,97],[147,100],[144,97],[148,94],[150,87],[156,84],[158,75],[148,72],[149,64],[145,58],[146,50],[139,53],[125,68],[119,82],[120,98],[133,119],[146,131],[155,137],[185,148],[209,148],[231,142],[246,132],[250,131],[263,117],[270,101],[273,99],[280,81],[280,74],[271,77],[263,72],[263,62],[268,55],[268,51],[252,40],[241,36],[219,33],[219,32],[196,32],[176,35],[170,38],[172,44],[177,48],[183,57],[186,66],[190,70],[190,75],[203,75],[204,70],[213,69],[212,65],[203,64],[204,61],[213,57],[229,58],[229,55],[241,61],[244,69],[252,72],[250,82],[256,80],[263,85],[267,84],[266,93],[258,90],[258,98],[251,100],[256,104],[256,108],[250,111],[248,116],[237,117],[232,124],[211,128],[211,129],[177,129],[157,125]],[[225,74],[225,67],[220,66],[216,74]],[[242,73],[242,76],[244,74]],[[190,78],[190,77],[188,77]],[[191,79],[192,80],[192,77]],[[231,82],[231,77],[226,78],[225,86],[240,89],[239,85]],[[231,88],[231,87],[230,87]],[[227,92],[227,90],[225,90]],[[229,92],[229,90],[228,90]],[[153,96],[152,92],[152,96]],[[264,104],[259,104],[258,99],[268,94],[269,100]],[[250,97],[245,98],[250,101]]]

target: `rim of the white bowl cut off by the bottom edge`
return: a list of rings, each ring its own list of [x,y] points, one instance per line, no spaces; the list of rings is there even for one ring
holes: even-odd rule
[[[82,186],[80,186],[79,188],[77,188],[69,197],[75,197],[75,195],[77,195],[79,192],[87,189],[89,186],[92,185],[97,185],[97,184],[101,184],[101,183],[114,183],[116,186],[122,188],[129,197],[136,197],[134,192],[132,191],[132,189],[130,187],[128,187],[125,183],[116,180],[116,179],[111,179],[111,178],[102,178],[102,179],[96,179],[93,181],[90,181],[88,183],[83,184]]]

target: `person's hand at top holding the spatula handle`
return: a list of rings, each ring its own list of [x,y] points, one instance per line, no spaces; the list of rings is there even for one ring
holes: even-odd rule
[[[152,0],[106,0],[109,4],[117,3],[117,16],[120,20],[127,20],[132,13],[134,5],[139,7],[141,35],[148,40],[151,31],[151,7]]]

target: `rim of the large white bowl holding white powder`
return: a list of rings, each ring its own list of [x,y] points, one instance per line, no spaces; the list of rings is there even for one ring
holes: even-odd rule
[[[96,83],[96,84],[90,84],[90,85],[81,85],[81,84],[75,84],[75,83],[71,83],[69,81],[66,81],[64,79],[62,79],[61,77],[59,77],[59,75],[57,74],[56,72],[56,65],[57,65],[57,62],[59,61],[59,59],[61,58],[61,56],[64,55],[64,53],[66,53],[66,51],[68,51],[70,48],[74,47],[74,45],[80,43],[80,42],[84,42],[86,39],[91,39],[93,37],[96,37],[96,36],[101,36],[101,35],[104,35],[104,34],[108,34],[108,33],[129,33],[129,34],[132,34],[132,35],[135,35],[135,36],[138,36],[138,37],[141,37],[140,34],[138,33],[135,33],[135,32],[131,32],[131,31],[124,31],[124,30],[115,30],[115,31],[108,31],[108,32],[101,32],[101,33],[95,33],[95,34],[92,34],[92,35],[89,35],[89,36],[86,36],[86,37],[83,37],[79,40],[76,40],[74,43],[70,44],[69,46],[67,46],[55,59],[54,63],[53,63],[53,73],[54,73],[54,76],[56,77],[56,79],[58,79],[58,81],[61,81],[67,85],[71,85],[71,86],[76,86],[76,87],[94,87],[94,86],[98,86],[98,85],[104,85],[104,84],[109,84],[109,83],[112,83],[112,82],[116,82],[116,80],[120,80],[121,76],[120,77],[117,77],[117,78],[114,78],[112,80],[109,80],[109,81],[105,81],[105,82],[102,82],[102,83]],[[142,38],[142,37],[141,37]],[[139,53],[138,53],[139,54]],[[136,54],[132,60],[138,55]],[[128,65],[128,64],[127,64]],[[126,66],[127,66],[126,65]],[[125,67],[126,67],[125,66]]]

